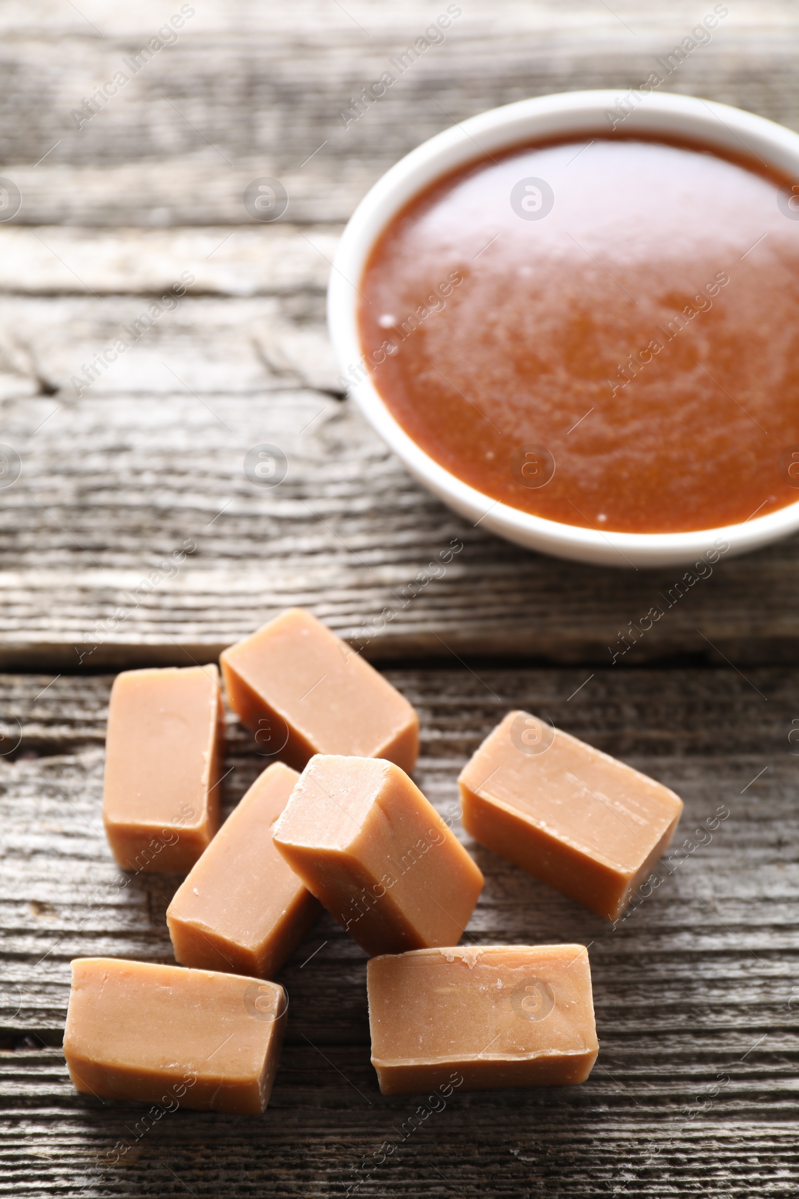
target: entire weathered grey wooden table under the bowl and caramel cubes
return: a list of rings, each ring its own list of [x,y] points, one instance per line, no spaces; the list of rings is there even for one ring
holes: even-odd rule
[[[682,571],[500,542],[411,482],[343,398],[323,319],[341,223],[400,155],[523,96],[622,94],[713,5],[464,0],[349,125],[443,0],[210,0],[151,55],[176,2],[79,7],[0,13],[0,174],[23,197],[0,223],[0,440],[22,462],[1,493],[0,1194],[799,1194],[799,540],[677,591]],[[736,0],[668,86],[799,128],[798,48],[788,0]],[[131,78],[81,121],[123,60]],[[276,224],[242,204],[262,176],[289,192]],[[178,307],[151,308],[181,272]],[[243,472],[262,442],[289,462],[271,490]],[[611,664],[659,592],[677,596],[666,616]],[[262,1119],[143,1123],[73,1091],[69,959],[171,960],[177,880],[120,885],[99,824],[113,673],[212,661],[289,603],[353,640],[395,610],[365,652],[419,709],[417,778],[444,814],[512,705],[684,796],[679,864],[616,928],[470,843],[486,887],[468,939],[589,945],[586,1085],[458,1095],[410,1121],[419,1099],[381,1097],[369,1062],[365,957],[325,917],[280,975],[290,1026]],[[232,717],[229,742],[230,807],[262,761]]]

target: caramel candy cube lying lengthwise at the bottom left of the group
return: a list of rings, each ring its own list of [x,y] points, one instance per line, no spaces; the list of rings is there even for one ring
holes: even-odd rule
[[[77,958],[63,1056],[78,1091],[168,1110],[264,1111],[285,1026],[273,982]]]

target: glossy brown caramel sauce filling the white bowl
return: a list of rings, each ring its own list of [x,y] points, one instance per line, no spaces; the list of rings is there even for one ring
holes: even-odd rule
[[[758,171],[599,138],[436,183],[367,264],[375,386],[436,462],[552,520],[674,532],[799,500],[799,206]]]

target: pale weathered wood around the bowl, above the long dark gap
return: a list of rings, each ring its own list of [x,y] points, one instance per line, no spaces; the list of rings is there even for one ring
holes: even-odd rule
[[[435,6],[204,6],[114,104],[71,131],[74,97],[109,78],[171,12],[43,4],[0,17],[23,31],[2,49],[13,120],[0,134],[5,161],[28,162],[19,221],[61,223],[0,228],[4,435],[24,460],[19,483],[2,492],[10,620],[0,659],[54,669],[74,668],[84,651],[93,668],[143,656],[201,661],[301,602],[382,661],[454,661],[453,652],[799,661],[795,542],[722,561],[690,586],[682,571],[631,573],[622,558],[618,572],[544,559],[452,517],[349,404],[332,399],[340,382],[322,291],[340,227],[331,222],[450,119],[537,91],[623,90],[646,78],[695,24],[691,5],[468,7],[446,42],[347,128],[340,106],[429,25]],[[736,5],[668,85],[799,127],[797,38],[789,6]],[[37,158],[54,146],[36,167],[25,157],[32,144]],[[242,228],[241,187],[252,177],[242,159],[282,177],[287,163],[286,218],[323,224]],[[69,228],[75,221],[105,228]],[[229,225],[140,230],[131,221]],[[84,364],[181,271],[194,275],[194,295],[159,315],[79,400],[72,380]],[[301,418],[310,422],[302,435]],[[264,441],[285,441],[290,458],[286,483],[268,494],[242,470],[247,450]],[[198,543],[187,568],[108,628],[126,591],[186,537]],[[429,564],[453,537],[465,549],[430,582],[440,565]],[[670,600],[677,588],[680,598]],[[664,619],[641,637],[635,626],[653,604]]]

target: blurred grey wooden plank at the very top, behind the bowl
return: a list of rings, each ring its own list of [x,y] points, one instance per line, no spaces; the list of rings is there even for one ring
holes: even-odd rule
[[[635,86],[703,16],[686,0],[623,12],[503,0],[501,19],[462,5],[443,44],[402,70],[392,60],[446,5],[304,0],[284,16],[246,5],[231,18],[212,4],[196,6],[176,44],[123,67],[178,7],[120,19],[107,4],[86,17],[42,4],[12,26],[0,155],[23,193],[17,221],[250,223],[243,191],[264,176],[283,180],[290,219],[344,221],[388,165],[453,121],[529,95]],[[797,42],[791,5],[738,2],[664,88],[799,127]],[[128,83],[78,128],[77,107],[121,68]],[[351,97],[387,71],[397,82],[345,125]]]

